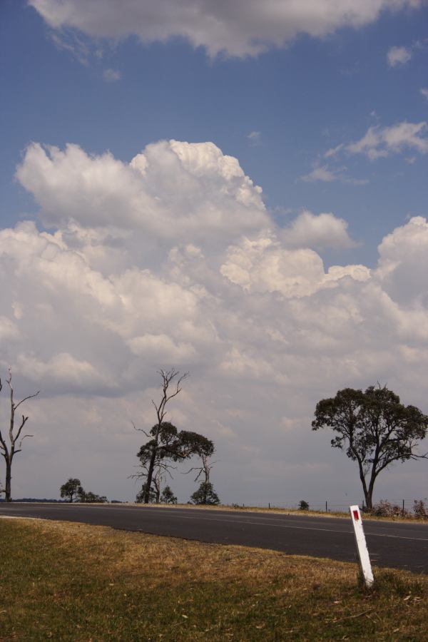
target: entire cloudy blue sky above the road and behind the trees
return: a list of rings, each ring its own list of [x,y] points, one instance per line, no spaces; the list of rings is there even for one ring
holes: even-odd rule
[[[133,500],[175,367],[225,503],[361,501],[311,422],[377,382],[428,413],[427,26],[424,0],[2,1],[0,376],[41,391],[14,496]]]

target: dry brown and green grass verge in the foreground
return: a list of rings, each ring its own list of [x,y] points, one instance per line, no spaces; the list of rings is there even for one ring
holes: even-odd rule
[[[428,577],[68,522],[0,519],[0,640],[424,640]]]

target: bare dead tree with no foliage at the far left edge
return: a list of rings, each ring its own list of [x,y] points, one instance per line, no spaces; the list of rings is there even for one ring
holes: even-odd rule
[[[12,387],[11,368],[9,368],[9,374],[6,379],[6,383],[9,386],[9,392],[10,392],[11,415],[10,415],[10,421],[9,421],[9,431],[5,433],[7,434],[7,437],[3,436],[3,433],[1,432],[1,429],[0,429],[0,454],[2,457],[4,457],[4,461],[6,462],[6,479],[5,479],[4,489],[1,490],[1,492],[4,493],[5,501],[12,501],[12,497],[11,497],[12,462],[14,460],[15,455],[21,452],[22,442],[24,441],[24,439],[26,437],[33,437],[32,434],[22,434],[22,429],[24,428],[29,418],[25,417],[25,415],[23,414],[21,416],[21,420],[19,421],[19,427],[16,428],[15,413],[21,404],[26,402],[27,399],[32,399],[33,397],[37,397],[40,391],[35,392],[34,394],[29,394],[28,397],[24,397],[24,399],[21,399],[21,401],[16,404],[14,402],[14,389]],[[3,388],[3,384],[1,383],[1,379],[0,379],[0,391],[2,388]]]

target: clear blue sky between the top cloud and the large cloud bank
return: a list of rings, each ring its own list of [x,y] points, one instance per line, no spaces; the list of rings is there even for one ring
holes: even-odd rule
[[[111,150],[129,161],[160,139],[213,141],[237,157],[280,221],[302,208],[333,212],[350,223],[362,245],[347,260],[377,259],[382,236],[407,215],[425,212],[426,158],[412,150],[377,162],[342,158],[346,175],[365,185],[300,180],[329,148],[362,138],[367,128],[427,118],[428,8],[384,11],[362,29],[345,27],[323,39],[303,35],[257,57],[210,59],[183,38],[116,44],[78,34],[88,50],[82,64],[58,50],[52,30],[26,2],[2,4],[4,131],[2,193],[6,223],[31,200],[13,175],[30,141],[77,143],[93,153]],[[70,44],[74,39],[69,38]],[[415,43],[419,42],[419,49]],[[408,63],[389,66],[387,51],[404,46]],[[106,81],[106,69],[118,81]],[[260,140],[248,139],[260,132]],[[404,160],[417,157],[413,165]],[[283,214],[283,212],[286,214]],[[342,259],[337,254],[327,262]]]

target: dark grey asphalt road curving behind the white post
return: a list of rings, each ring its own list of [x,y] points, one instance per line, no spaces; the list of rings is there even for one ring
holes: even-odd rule
[[[243,511],[90,504],[4,504],[0,516],[39,517],[287,554],[355,561],[350,519]],[[364,522],[372,564],[428,574],[428,524]]]

